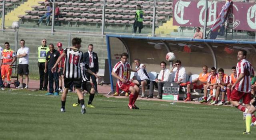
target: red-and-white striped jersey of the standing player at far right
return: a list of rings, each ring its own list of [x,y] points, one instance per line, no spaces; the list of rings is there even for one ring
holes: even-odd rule
[[[251,75],[254,75],[254,70],[252,68],[252,64],[246,59],[240,60],[236,64],[236,77],[243,73],[244,77],[240,80],[235,88],[240,92],[251,92]]]

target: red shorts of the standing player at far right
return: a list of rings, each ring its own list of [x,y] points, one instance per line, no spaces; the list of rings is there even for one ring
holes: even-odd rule
[[[231,92],[230,99],[233,101],[240,101],[243,98],[244,104],[249,104],[252,100],[252,96],[250,92],[240,92],[234,88]]]

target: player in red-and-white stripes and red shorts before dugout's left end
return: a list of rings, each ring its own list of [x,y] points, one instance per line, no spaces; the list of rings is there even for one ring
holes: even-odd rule
[[[121,54],[121,61],[116,63],[114,66],[111,75],[117,78],[118,86],[121,90],[124,90],[124,92],[130,91],[129,96],[129,104],[128,107],[130,109],[139,109],[135,102],[139,96],[140,88],[134,84],[133,82],[130,82],[128,79],[128,71],[137,72],[136,70],[132,70],[130,64],[127,62],[128,54],[125,52]]]

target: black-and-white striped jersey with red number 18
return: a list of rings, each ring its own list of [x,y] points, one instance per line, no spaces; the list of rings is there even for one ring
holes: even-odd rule
[[[66,48],[63,50],[66,54],[63,74],[66,78],[81,78],[80,63],[83,52],[75,48]]]

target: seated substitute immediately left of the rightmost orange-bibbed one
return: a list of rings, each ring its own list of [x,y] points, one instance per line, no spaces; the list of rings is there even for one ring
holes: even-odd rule
[[[218,79],[216,82],[218,84],[218,87],[216,89],[216,96],[215,96],[214,102],[212,102],[212,105],[218,103],[218,98],[219,98],[220,92],[222,93],[222,99],[218,103],[218,105],[222,105],[225,103],[225,95],[226,95],[227,85],[229,82],[229,76],[224,74],[223,68],[220,68],[218,70]]]

